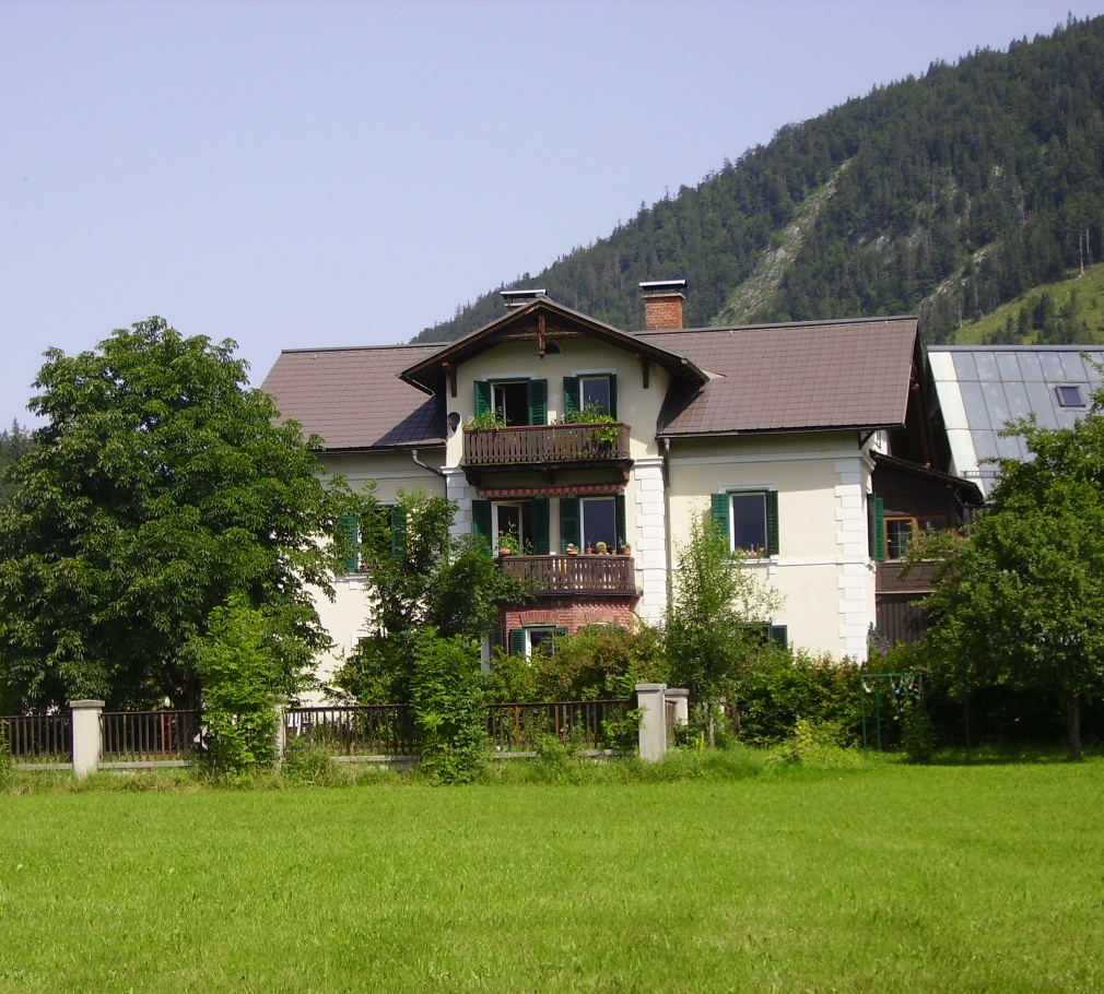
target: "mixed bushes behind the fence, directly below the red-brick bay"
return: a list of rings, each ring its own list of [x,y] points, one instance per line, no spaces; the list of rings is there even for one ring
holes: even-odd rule
[[[555,651],[530,659],[496,653],[487,674],[490,703],[615,701],[633,696],[638,683],[662,682],[666,673],[658,631],[591,624],[555,640]]]

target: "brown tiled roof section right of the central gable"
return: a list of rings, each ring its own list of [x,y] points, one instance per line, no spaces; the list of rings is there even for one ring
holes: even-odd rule
[[[915,318],[639,332],[711,375],[668,398],[660,435],[903,425]]]

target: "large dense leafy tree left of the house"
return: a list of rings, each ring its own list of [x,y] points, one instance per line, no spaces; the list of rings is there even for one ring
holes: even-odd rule
[[[151,318],[46,353],[30,405],[45,424],[0,507],[0,707],[194,706],[232,598],[265,618],[276,692],[327,644],[308,587],[329,590],[340,548],[317,539],[350,498],[234,348]]]

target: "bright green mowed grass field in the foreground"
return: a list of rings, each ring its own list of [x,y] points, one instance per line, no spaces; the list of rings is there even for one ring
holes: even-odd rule
[[[1104,762],[0,795],[0,992],[1104,990]]]

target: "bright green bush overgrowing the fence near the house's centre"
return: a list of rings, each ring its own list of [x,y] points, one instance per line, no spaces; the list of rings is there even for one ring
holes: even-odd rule
[[[479,646],[426,629],[417,639],[411,705],[422,742],[420,773],[434,783],[467,783],[487,763],[487,707]]]

